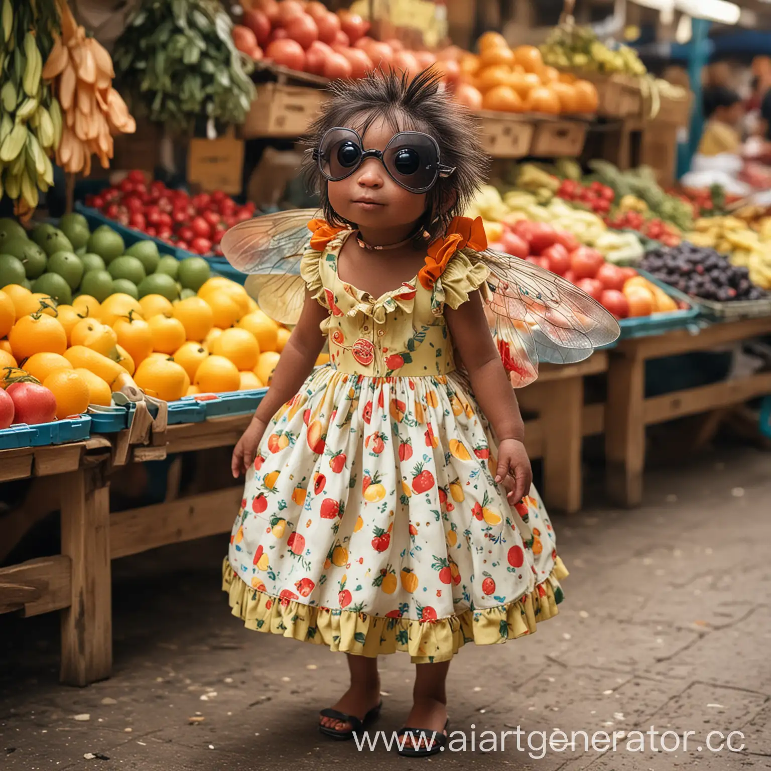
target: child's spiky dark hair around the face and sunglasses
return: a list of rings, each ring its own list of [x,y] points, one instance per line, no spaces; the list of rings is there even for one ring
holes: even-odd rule
[[[480,126],[466,108],[452,101],[440,88],[441,76],[424,69],[410,82],[405,74],[374,72],[366,78],[336,82],[330,87],[322,115],[311,125],[303,169],[311,190],[321,198],[324,216],[330,224],[348,223],[329,204],[327,180],[318,170],[311,151],[322,136],[335,126],[354,129],[362,136],[378,119],[385,120],[394,133],[422,131],[439,144],[445,166],[455,167],[449,177],[439,177],[426,196],[423,229],[433,239],[446,231],[456,214],[463,214],[476,190],[487,180],[490,160],[480,145]]]

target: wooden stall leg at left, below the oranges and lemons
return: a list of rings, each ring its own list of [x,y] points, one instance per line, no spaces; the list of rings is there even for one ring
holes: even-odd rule
[[[113,667],[109,484],[103,466],[59,479],[62,554],[72,560],[72,604],[62,611],[60,678],[68,685],[88,685],[108,678]]]

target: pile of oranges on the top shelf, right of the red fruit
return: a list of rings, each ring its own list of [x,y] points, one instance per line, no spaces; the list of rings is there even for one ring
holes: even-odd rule
[[[594,85],[547,66],[533,45],[512,50],[502,35],[485,32],[479,49],[479,56],[461,56],[455,89],[455,98],[471,109],[550,115],[597,111]]]

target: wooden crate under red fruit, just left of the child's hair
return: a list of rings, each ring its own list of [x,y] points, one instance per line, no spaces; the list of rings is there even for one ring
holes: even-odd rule
[[[244,123],[244,139],[303,136],[326,98],[320,89],[261,83]]]

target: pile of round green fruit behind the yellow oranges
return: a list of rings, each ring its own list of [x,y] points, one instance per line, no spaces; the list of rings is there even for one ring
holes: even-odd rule
[[[19,284],[46,300],[69,305],[90,295],[102,302],[122,292],[173,301],[193,295],[209,275],[204,258],[161,257],[149,240],[126,247],[107,225],[90,232],[82,214],[66,214],[59,227],[35,225],[29,237],[18,223],[0,220],[0,286]]]

